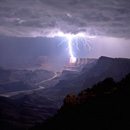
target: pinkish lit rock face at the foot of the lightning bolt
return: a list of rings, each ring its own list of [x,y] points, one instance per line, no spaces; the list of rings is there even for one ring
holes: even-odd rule
[[[81,71],[86,64],[94,64],[97,59],[92,58],[76,58],[74,63],[69,62],[64,69],[65,70],[73,70],[73,71]]]

